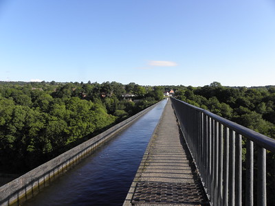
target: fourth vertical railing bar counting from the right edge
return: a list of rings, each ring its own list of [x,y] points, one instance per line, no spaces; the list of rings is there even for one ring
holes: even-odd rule
[[[235,205],[235,132],[230,130],[229,137],[229,190],[228,205]]]

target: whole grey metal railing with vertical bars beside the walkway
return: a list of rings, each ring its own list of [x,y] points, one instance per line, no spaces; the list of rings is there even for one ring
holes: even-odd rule
[[[275,140],[171,100],[211,205],[267,205],[266,150],[275,153]]]

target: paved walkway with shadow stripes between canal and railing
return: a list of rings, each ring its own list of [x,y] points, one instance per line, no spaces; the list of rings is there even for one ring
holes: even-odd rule
[[[208,205],[168,100],[124,206]]]

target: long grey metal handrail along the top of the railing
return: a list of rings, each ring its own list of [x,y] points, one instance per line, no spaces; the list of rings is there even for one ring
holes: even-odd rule
[[[177,100],[175,98],[173,98],[173,99]],[[244,137],[250,139],[251,141],[254,141],[257,145],[261,146],[262,148],[270,150],[271,152],[275,152],[275,139],[272,139],[271,137],[262,135],[261,133],[257,133],[254,130],[251,130],[250,128],[241,126],[240,124],[236,124],[235,122],[232,122],[228,119],[220,117],[219,115],[215,115],[214,113],[211,113],[210,111],[207,111],[206,109],[199,108],[197,106],[188,104],[181,100],[177,100],[177,101],[181,102],[182,104],[186,104],[187,106],[190,106],[191,108],[194,108],[195,110],[200,111],[201,113],[204,113],[205,115],[208,115],[209,117],[216,120],[217,122],[236,131],[236,133],[238,133],[239,135],[243,135]]]

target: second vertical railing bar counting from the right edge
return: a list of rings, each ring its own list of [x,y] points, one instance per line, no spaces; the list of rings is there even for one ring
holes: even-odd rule
[[[254,150],[253,141],[246,139],[245,205],[253,206]]]

